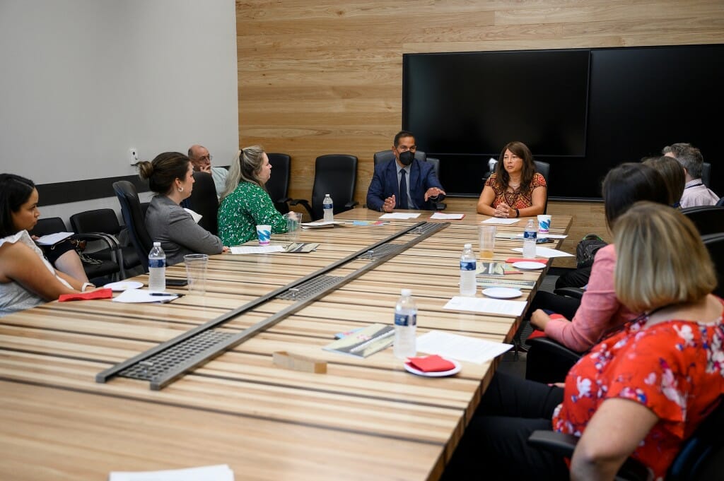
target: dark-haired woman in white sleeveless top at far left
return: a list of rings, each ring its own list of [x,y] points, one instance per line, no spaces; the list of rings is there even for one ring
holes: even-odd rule
[[[28,234],[39,216],[33,181],[0,174],[0,316],[92,287],[56,271],[43,257]]]

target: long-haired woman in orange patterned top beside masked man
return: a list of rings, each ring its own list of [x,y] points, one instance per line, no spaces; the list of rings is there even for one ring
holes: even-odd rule
[[[530,217],[543,213],[547,187],[536,172],[531,150],[513,141],[502,149],[495,172],[485,182],[478,213],[494,217]]]

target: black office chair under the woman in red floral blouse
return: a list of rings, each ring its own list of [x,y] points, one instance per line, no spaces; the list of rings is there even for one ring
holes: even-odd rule
[[[724,473],[724,402],[696,427],[691,438],[683,442],[681,451],[666,472],[665,481],[709,481],[722,479]],[[578,437],[555,431],[536,430],[528,438],[531,446],[545,449],[570,459]],[[628,458],[615,477],[620,481],[649,479],[648,469],[636,459]]]

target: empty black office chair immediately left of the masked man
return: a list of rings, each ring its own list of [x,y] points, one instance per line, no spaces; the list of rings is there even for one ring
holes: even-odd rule
[[[322,201],[329,194],[334,202],[334,213],[350,210],[357,205],[354,200],[357,184],[357,158],[347,154],[328,154],[319,156],[314,163],[314,185],[312,202],[304,199],[292,199],[289,205],[301,204],[309,213],[311,220],[324,217]]]

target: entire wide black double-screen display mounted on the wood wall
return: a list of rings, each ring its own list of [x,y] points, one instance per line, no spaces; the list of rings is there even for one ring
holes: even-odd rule
[[[440,159],[448,195],[479,195],[511,140],[550,163],[549,197],[599,199],[607,171],[690,142],[719,161],[724,45],[403,56],[403,129]]]

